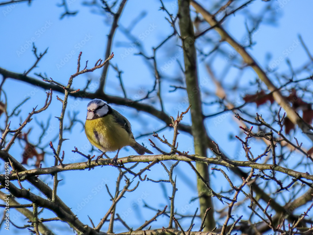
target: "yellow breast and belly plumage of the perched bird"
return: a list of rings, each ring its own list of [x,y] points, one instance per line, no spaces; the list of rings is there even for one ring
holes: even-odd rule
[[[125,128],[115,122],[111,115],[86,120],[85,133],[92,145],[103,152],[114,152],[127,145],[135,144]]]

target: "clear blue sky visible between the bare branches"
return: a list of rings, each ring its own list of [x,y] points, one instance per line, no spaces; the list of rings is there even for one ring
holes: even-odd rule
[[[218,1],[215,1],[216,3]],[[273,66],[275,61],[283,57],[283,60],[279,62],[276,69],[280,72],[286,72],[288,74],[288,66],[286,59],[289,59],[291,64],[298,68],[304,63],[309,61],[303,47],[298,44],[298,35],[300,34],[305,41],[307,47],[313,52],[313,44],[311,44],[312,32],[309,25],[312,22],[311,9],[313,8],[313,2],[310,0],[303,0],[301,3],[295,0],[281,0],[271,1],[276,6],[273,14],[278,15],[278,21],[273,24],[262,24],[258,31],[254,34],[253,40],[256,42],[252,49],[248,49],[251,55],[259,62],[259,64],[265,68],[268,65],[267,55],[271,54],[269,65]],[[164,1],[167,9],[176,14],[177,4],[175,1]],[[255,1],[248,6],[249,11],[254,14],[258,14],[260,9],[266,7],[266,2]],[[205,2],[203,6],[212,10],[212,3]],[[33,65],[35,58],[31,49],[32,42],[35,43],[38,52],[44,52],[49,47],[48,53],[39,62],[38,68],[35,68],[29,76],[34,76],[34,73],[46,73],[48,77],[53,78],[62,84],[67,84],[69,76],[74,74],[77,66],[77,56],[80,51],[83,52],[81,61],[85,64],[86,60],[89,60],[88,67],[90,68],[95,61],[99,58],[104,58],[106,47],[106,35],[109,32],[110,25],[107,22],[111,22],[111,18],[99,14],[99,8],[93,6],[83,5],[82,1],[68,0],[68,7],[71,11],[78,10],[75,17],[64,17],[59,19],[64,9],[57,6],[53,1],[33,1],[30,6],[27,3],[18,3],[7,5],[0,8],[0,30],[2,35],[0,37],[0,66],[14,71],[22,73],[28,70]],[[142,45],[146,55],[153,55],[152,47],[157,46],[162,40],[164,40],[169,34],[172,33],[172,28],[168,24],[165,17],[167,14],[163,11],[159,11],[161,3],[159,1],[140,1],[134,0],[126,3],[126,7],[123,11],[120,25],[124,28],[128,28],[132,25],[133,20],[139,15],[143,14],[144,18],[139,21],[138,24],[132,30],[132,35],[138,38],[139,43]],[[116,10],[116,9],[114,9]],[[243,10],[242,10],[243,11]],[[192,13],[194,16],[195,14]],[[269,16],[268,16],[269,17]],[[239,42],[245,41],[245,18],[242,12],[237,12],[234,16],[229,16],[223,23],[228,32],[233,35]],[[208,34],[214,34],[214,31],[210,31]],[[176,61],[183,61],[183,56],[179,50],[180,42],[177,37],[170,39],[165,45],[164,49],[157,52],[157,65],[160,71],[162,68],[166,68],[162,75],[172,77],[182,77],[182,72],[179,70]],[[290,50],[292,47],[292,51]],[[122,79],[124,86],[126,87],[126,93],[131,99],[140,99],[145,96],[146,92],[151,89],[154,83],[153,70],[151,70],[146,63],[146,60],[139,55],[134,55],[139,52],[139,47],[134,45],[120,29],[117,29],[115,39],[113,43],[112,51],[115,56],[111,62],[114,65],[118,65],[119,69],[123,71]],[[205,47],[204,47],[205,48]],[[227,45],[223,45],[223,48],[232,53],[233,49]],[[209,51],[209,45],[206,48]],[[287,51],[288,52],[287,52]],[[171,62],[172,61],[172,62]],[[208,76],[205,69],[205,61],[198,60],[199,70],[199,83],[203,85],[205,91],[215,91],[215,85],[211,78]],[[227,65],[227,61],[223,57],[216,57],[213,61],[213,71],[216,75],[223,75],[223,69]],[[277,62],[278,63],[278,62]],[[277,64],[276,63],[276,64]],[[274,65],[275,66],[275,65]],[[78,76],[74,79],[73,88],[84,88],[88,79],[91,79],[89,91],[93,92],[97,88],[99,76],[102,70],[95,70],[93,73]],[[238,75],[239,71],[236,69],[230,70],[225,77],[226,84],[233,84],[234,77]],[[309,76],[308,72],[303,72],[301,77]],[[245,70],[243,79],[239,82],[240,86],[247,87],[247,93],[255,91],[255,87],[249,87],[249,81],[255,80],[255,73],[252,70]],[[274,76],[272,77],[274,79]],[[177,110],[184,111],[188,104],[186,102],[186,94],[184,91],[168,92],[172,90],[170,85],[175,83],[173,80],[164,81],[162,85],[162,95],[165,101],[165,110],[169,115],[177,115]],[[177,84],[177,83],[176,83]],[[183,84],[182,84],[183,86]],[[8,96],[8,110],[12,110],[16,105],[23,101],[26,97],[31,97],[27,103],[25,103],[21,109],[21,115],[16,118],[12,118],[11,128],[17,128],[21,119],[26,118],[28,112],[32,107],[38,105],[38,107],[44,104],[45,91],[41,88],[29,86],[26,83],[8,80],[3,86]],[[119,86],[119,80],[116,77],[116,72],[110,67],[108,73],[108,79],[105,87],[107,94],[123,96],[122,90]],[[45,122],[49,117],[51,118],[50,127],[47,133],[44,135],[43,142],[45,144],[54,140],[58,134],[58,121],[55,116],[59,116],[61,112],[61,103],[56,100],[56,95],[62,97],[62,94],[54,92],[53,101],[47,111],[36,115],[35,119],[38,122]],[[239,103],[242,102],[241,97],[243,94],[232,94],[233,99],[238,99]],[[1,97],[3,100],[4,97]],[[86,117],[86,105],[90,100],[88,99],[69,99],[68,111],[72,113],[78,112],[77,118],[82,122],[85,122]],[[212,101],[212,100],[211,100]],[[152,102],[154,106],[160,109],[160,105],[156,97],[152,97],[148,101]],[[210,102],[210,101],[208,101]],[[151,117],[151,115],[144,112],[137,112],[131,108],[125,108],[112,104],[112,107],[126,116],[131,124],[134,136],[139,136],[144,133],[151,133],[164,126],[164,123]],[[255,107],[254,107],[255,108]],[[204,107],[205,114],[211,114],[217,112],[218,106]],[[67,113],[68,115],[68,113]],[[0,125],[3,126],[3,117],[0,118]],[[190,124],[190,116],[186,115],[183,119],[184,123]],[[65,125],[68,125],[68,121]],[[216,140],[221,149],[224,149],[226,153],[231,156],[238,155],[239,159],[244,159],[241,156],[242,149],[238,145],[238,141],[229,139],[229,135],[238,135],[240,129],[236,124],[233,114],[227,113],[219,115],[206,120],[206,127],[208,133]],[[30,141],[35,142],[40,129],[37,127],[35,120],[29,123],[26,130],[32,128],[30,135]],[[160,136],[165,135],[168,139],[172,138],[172,131],[166,129],[159,133]],[[74,154],[71,150],[76,146],[80,151],[88,154],[91,149],[91,145],[88,142],[83,132],[83,126],[81,123],[76,123],[71,132],[65,132],[64,138],[69,138],[64,145],[65,151],[65,163],[85,161],[83,157],[78,154]],[[149,149],[152,147],[149,145],[148,139],[152,136],[146,136],[137,139],[139,143],[143,142]],[[306,148],[310,148],[308,140],[299,135],[300,142],[304,142]],[[181,133],[178,136],[179,146],[181,150],[189,151],[193,153],[193,141],[190,135]],[[57,142],[54,140],[55,145]],[[22,145],[21,145],[22,144]],[[20,160],[20,156],[23,152],[23,142],[21,144],[18,141],[15,143],[14,148],[10,149],[10,154]],[[42,145],[42,146],[43,146]],[[157,143],[158,146],[165,150],[165,146]],[[254,151],[257,153],[262,147],[261,142],[257,142]],[[131,149],[123,149],[119,156],[128,156],[131,154]],[[52,152],[49,148],[45,151],[44,167],[53,165],[54,159]],[[157,151],[152,150],[154,153]],[[260,150],[261,151],[261,150]],[[92,154],[99,154],[99,151],[94,151]],[[114,156],[115,154],[110,154]],[[208,154],[213,156],[212,153]],[[32,161],[29,160],[31,164]],[[165,162],[167,166],[170,166],[173,162]],[[1,163],[2,164],[2,163]],[[145,165],[140,165],[137,170],[140,170]],[[32,168],[32,166],[29,166]],[[190,199],[197,196],[196,193],[196,176],[190,170],[187,164],[179,163],[174,173],[177,174],[177,194],[176,194],[176,209],[178,213],[193,214],[198,207],[198,201],[190,202]],[[148,173],[148,177],[154,180],[166,178],[166,172],[163,167],[158,164],[151,169]],[[76,210],[76,214],[79,219],[86,224],[90,225],[87,215],[89,215],[94,223],[98,223],[100,218],[103,217],[105,212],[110,206],[110,197],[103,187],[105,182],[113,193],[115,189],[115,180],[118,175],[118,170],[111,166],[98,167],[94,170],[85,171],[70,171],[59,174],[59,179],[64,179],[60,182],[58,188],[58,196],[69,207]],[[50,176],[41,176],[42,180],[46,180],[49,185],[52,185]],[[221,184],[221,182],[223,182]],[[134,180],[132,186],[135,186],[137,179]],[[234,180],[234,183],[241,183],[240,180]],[[219,192],[220,190],[228,190],[229,186],[224,178],[221,178],[220,174],[214,173],[211,178],[212,187]],[[27,183],[23,183],[25,188],[31,187]],[[167,196],[171,195],[170,185],[164,185],[167,190]],[[163,209],[165,205],[170,202],[167,197],[163,196],[162,187],[156,185],[150,181],[141,182],[138,189],[132,193],[127,193],[126,198],[123,198],[117,206],[117,212],[125,217],[125,221],[131,227],[139,227],[145,220],[154,216],[155,212],[150,209],[144,208],[143,201],[148,205],[153,206],[156,209]],[[28,203],[25,200],[21,200],[21,203]],[[85,203],[85,205],[84,205]],[[216,209],[223,208],[223,205],[214,199]],[[84,206],[82,206],[84,205]],[[240,210],[236,211],[235,217],[241,215]],[[23,225],[23,218],[15,210],[12,210],[12,220],[19,226]],[[54,217],[54,214],[49,211],[44,211],[41,217]],[[16,218],[16,220],[14,220]],[[247,218],[246,218],[247,219]],[[200,220],[196,219],[196,226],[200,224]],[[167,226],[167,218],[160,217],[157,222],[152,223],[152,228]],[[183,227],[189,227],[190,219],[182,220]],[[57,234],[72,234],[70,228],[63,223],[48,223],[49,228],[54,230]],[[2,227],[3,228],[3,227]],[[18,234],[20,230],[11,227],[12,230],[6,234]],[[104,228],[105,231],[105,228]],[[121,224],[116,226],[115,232],[125,231]]]

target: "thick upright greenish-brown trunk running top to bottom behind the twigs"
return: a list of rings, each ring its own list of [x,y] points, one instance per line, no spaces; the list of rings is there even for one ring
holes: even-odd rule
[[[191,105],[192,136],[195,146],[195,154],[206,157],[208,148],[206,142],[207,133],[203,123],[201,93],[198,84],[197,55],[194,45],[195,35],[190,18],[189,0],[178,1],[178,18],[182,49],[184,52],[186,90]],[[204,180],[209,182],[208,165],[196,163],[196,168],[200,175],[203,176]],[[197,187],[200,202],[200,216],[204,217],[207,208],[212,208],[212,210],[208,212],[208,216],[204,222],[204,230],[210,231],[215,227],[212,198],[209,196],[210,192],[199,178],[197,179]]]

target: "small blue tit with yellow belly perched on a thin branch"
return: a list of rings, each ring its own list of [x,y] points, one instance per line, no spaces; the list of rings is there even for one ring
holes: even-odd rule
[[[118,153],[124,146],[130,146],[139,155],[153,154],[136,142],[129,121],[100,99],[93,99],[87,105],[85,134],[89,142],[100,151],[117,150],[113,163],[116,163]]]

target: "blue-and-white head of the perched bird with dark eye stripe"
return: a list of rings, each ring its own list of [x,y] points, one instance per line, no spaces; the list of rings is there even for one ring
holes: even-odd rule
[[[100,99],[93,99],[87,105],[86,120],[101,118],[110,112],[110,106]]]

